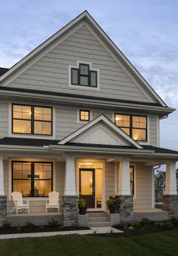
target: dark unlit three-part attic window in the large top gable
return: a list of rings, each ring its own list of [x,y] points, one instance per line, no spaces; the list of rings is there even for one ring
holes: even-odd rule
[[[97,71],[90,70],[87,64],[79,64],[79,69],[72,68],[72,85],[97,87]]]

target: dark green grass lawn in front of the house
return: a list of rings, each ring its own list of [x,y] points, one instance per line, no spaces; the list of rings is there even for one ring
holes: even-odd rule
[[[146,236],[51,236],[0,240],[0,255],[178,255],[178,231]]]

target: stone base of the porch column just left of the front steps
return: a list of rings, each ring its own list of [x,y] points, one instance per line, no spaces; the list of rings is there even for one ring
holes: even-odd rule
[[[63,196],[62,214],[64,227],[78,226],[78,196]]]

